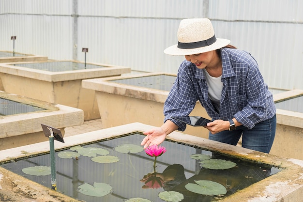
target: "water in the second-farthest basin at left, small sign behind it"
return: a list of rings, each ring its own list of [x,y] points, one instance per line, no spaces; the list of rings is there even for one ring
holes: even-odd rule
[[[27,67],[31,69],[39,69],[50,72],[74,71],[80,69],[96,69],[106,68],[105,66],[85,64],[71,61],[57,61],[57,62],[38,62],[38,63],[25,63],[16,64],[16,66]]]

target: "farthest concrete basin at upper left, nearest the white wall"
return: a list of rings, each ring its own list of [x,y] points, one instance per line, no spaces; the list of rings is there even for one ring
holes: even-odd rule
[[[46,56],[14,53],[11,51],[0,51],[0,63],[4,62],[42,62],[47,61]]]

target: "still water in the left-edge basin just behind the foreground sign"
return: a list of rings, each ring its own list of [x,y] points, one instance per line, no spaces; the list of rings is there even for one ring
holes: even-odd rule
[[[0,97],[0,116],[8,116],[41,110],[45,109]]]

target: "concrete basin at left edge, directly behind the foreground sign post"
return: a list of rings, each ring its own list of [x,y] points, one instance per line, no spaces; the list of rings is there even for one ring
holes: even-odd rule
[[[0,150],[45,141],[41,124],[83,124],[83,110],[0,91]]]

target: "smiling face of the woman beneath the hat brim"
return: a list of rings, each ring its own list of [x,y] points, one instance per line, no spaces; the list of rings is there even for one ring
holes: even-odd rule
[[[195,55],[185,55],[185,59],[196,64],[197,68],[199,69],[204,69],[205,67],[213,67],[216,65],[215,57],[217,57],[215,50]]]

